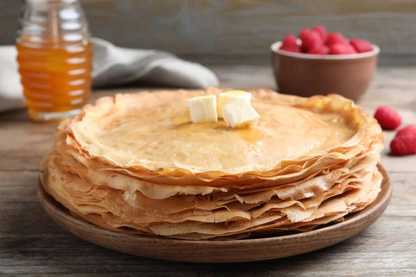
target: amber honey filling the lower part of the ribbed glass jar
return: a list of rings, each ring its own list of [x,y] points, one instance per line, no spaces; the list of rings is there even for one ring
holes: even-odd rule
[[[91,91],[91,44],[33,48],[18,42],[17,62],[29,115],[76,111]],[[52,118],[51,118],[52,119]]]

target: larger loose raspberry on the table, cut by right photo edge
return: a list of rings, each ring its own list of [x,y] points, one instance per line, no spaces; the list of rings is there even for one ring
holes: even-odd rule
[[[395,155],[416,154],[416,126],[400,129],[390,143],[390,150]]]

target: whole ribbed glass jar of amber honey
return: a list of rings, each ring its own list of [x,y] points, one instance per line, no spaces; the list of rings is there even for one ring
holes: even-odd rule
[[[92,44],[77,0],[26,0],[17,62],[29,116],[48,122],[76,115],[92,84]]]

